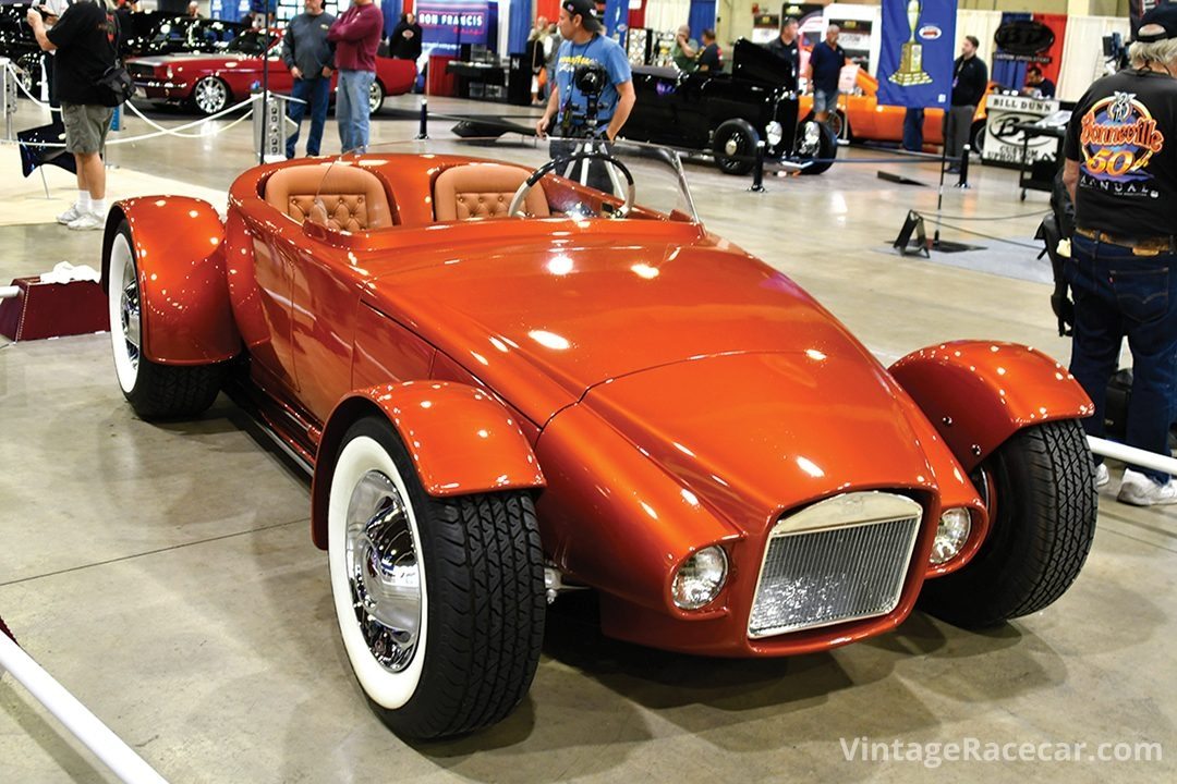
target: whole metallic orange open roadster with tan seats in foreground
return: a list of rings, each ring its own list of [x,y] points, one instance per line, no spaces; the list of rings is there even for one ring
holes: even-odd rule
[[[313,473],[394,731],[506,716],[570,588],[613,637],[759,657],[1075,581],[1091,406],[1062,366],[962,341],[883,367],[704,228],[673,153],[453,150],[260,166],[224,216],[133,199],[104,239],[125,396],[175,418],[230,389]]]

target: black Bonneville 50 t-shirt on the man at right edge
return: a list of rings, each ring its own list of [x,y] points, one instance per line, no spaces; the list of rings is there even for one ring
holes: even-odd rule
[[[1079,228],[1177,234],[1177,79],[1136,69],[1100,79],[1075,107],[1064,152],[1079,162]]]

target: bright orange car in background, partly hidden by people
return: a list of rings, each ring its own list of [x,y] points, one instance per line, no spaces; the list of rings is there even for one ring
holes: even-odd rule
[[[998,87],[997,82],[989,82],[989,89],[984,98]],[[865,71],[859,69],[857,76],[857,91],[853,95],[843,94],[838,96],[838,114],[832,120],[834,133],[839,139],[851,141],[903,141],[903,116],[906,109],[902,106],[887,106],[878,102],[879,82]],[[813,110],[813,96],[802,95],[798,116],[809,119]],[[843,130],[843,126],[849,122],[849,127]],[[924,112],[924,145],[940,145],[944,142],[944,110],[926,109]],[[977,113],[972,119],[972,129],[969,133],[969,143],[973,149],[979,150],[985,139],[985,100],[977,107]]]

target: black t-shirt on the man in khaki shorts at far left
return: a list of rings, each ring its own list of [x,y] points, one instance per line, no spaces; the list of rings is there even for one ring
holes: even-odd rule
[[[53,78],[58,100],[64,103],[101,103],[94,83],[114,65],[117,24],[102,5],[75,2],[49,28],[58,47]]]

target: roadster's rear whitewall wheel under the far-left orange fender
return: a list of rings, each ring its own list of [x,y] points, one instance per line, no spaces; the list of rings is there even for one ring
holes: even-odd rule
[[[225,364],[167,366],[142,355],[146,322],[131,226],[122,221],[107,259],[107,307],[114,371],[122,396],[145,420],[197,416],[217,398]]]

